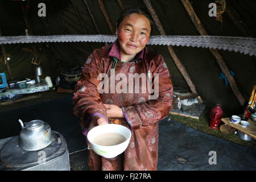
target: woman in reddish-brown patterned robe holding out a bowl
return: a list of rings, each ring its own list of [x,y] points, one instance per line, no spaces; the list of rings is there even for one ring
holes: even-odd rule
[[[73,97],[74,113],[81,119],[85,136],[88,129],[109,122],[129,127],[132,133],[125,152],[115,158],[106,159],[89,150],[88,164],[91,170],[157,168],[158,121],[165,118],[171,109],[172,82],[163,57],[146,47],[151,32],[149,17],[138,7],[123,10],[117,22],[117,40],[92,52],[77,82]],[[112,83],[105,82],[104,85],[98,79],[101,73],[108,77],[114,73],[114,86],[109,86],[113,84],[113,79],[110,79]],[[124,81],[121,86],[118,74]],[[142,83],[137,84],[138,76],[143,75],[151,80],[152,84],[147,82],[146,86],[154,86],[154,94],[152,88],[145,89]],[[102,89],[100,92],[99,85],[104,85],[104,92]],[[115,90],[111,92],[113,88]],[[129,91],[124,88],[129,88]]]

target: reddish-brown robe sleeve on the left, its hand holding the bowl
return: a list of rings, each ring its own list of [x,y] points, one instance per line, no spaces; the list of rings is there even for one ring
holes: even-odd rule
[[[85,61],[81,77],[75,86],[74,114],[80,118],[84,135],[87,134],[90,120],[94,115],[100,115],[108,122],[106,107],[103,105],[97,89],[101,82],[98,80],[98,75],[102,72],[101,69],[100,57],[97,51],[93,51]]]

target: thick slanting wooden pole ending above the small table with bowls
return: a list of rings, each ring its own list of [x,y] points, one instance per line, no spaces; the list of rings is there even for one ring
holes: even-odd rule
[[[192,22],[195,24],[197,31],[200,35],[208,35],[207,31],[205,30],[203,24],[201,23],[200,19],[195,13],[195,10],[193,9],[191,3],[188,0],[181,0],[183,3],[188,15],[190,16]],[[237,88],[236,81],[234,81],[233,76],[230,74],[228,65],[226,65],[224,59],[222,58],[220,52],[217,49],[209,49],[212,55],[215,57],[218,65],[220,65],[221,71],[224,73],[226,78],[229,81],[229,85],[237,97],[237,100],[240,102],[241,106],[245,105],[245,99],[243,98],[242,94]]]

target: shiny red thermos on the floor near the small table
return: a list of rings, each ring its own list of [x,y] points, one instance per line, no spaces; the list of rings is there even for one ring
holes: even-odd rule
[[[223,111],[221,109],[221,105],[217,104],[210,111],[210,129],[218,130],[218,126],[220,125]]]

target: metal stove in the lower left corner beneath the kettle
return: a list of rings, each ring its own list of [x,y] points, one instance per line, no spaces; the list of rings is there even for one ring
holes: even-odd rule
[[[53,142],[38,151],[19,146],[19,136],[0,139],[0,171],[69,171],[69,154],[64,137],[52,131]]]

